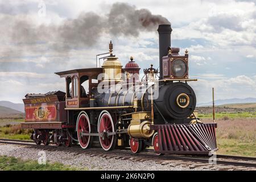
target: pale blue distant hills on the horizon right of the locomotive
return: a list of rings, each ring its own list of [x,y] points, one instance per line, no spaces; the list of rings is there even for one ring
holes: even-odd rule
[[[225,105],[225,104],[245,104],[245,103],[256,103],[256,98],[230,98],[224,100],[216,100],[214,101],[215,105]],[[199,103],[197,106],[211,106],[212,102]]]

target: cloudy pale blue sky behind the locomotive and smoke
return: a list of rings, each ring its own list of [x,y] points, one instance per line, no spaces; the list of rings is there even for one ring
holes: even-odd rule
[[[256,97],[256,1],[0,1],[0,100],[64,90],[53,74],[95,67],[109,40],[123,65],[159,65],[156,22],[171,22],[172,46],[189,51],[197,102]],[[146,9],[146,10],[145,10]],[[144,22],[139,22],[143,19]]]

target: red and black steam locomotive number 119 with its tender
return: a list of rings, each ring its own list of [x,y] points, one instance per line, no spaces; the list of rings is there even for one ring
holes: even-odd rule
[[[159,25],[158,32],[159,71],[151,64],[140,79],[133,57],[122,68],[110,42],[109,55],[97,59],[96,68],[56,73],[65,78],[65,93],[27,94],[22,128],[33,129],[36,144],[130,147],[133,153],[151,147],[156,154],[216,151],[217,124],[202,123],[195,111],[188,82],[197,80],[188,77],[188,51],[180,55],[171,47],[170,24]]]

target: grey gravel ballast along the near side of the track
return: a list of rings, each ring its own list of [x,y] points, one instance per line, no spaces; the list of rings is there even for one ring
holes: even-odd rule
[[[37,148],[18,146],[13,144],[0,144],[0,155],[14,156],[23,160],[38,160],[38,154],[42,151]],[[152,160],[144,162],[134,162],[133,160],[106,159],[101,156],[90,156],[86,153],[76,154],[65,151],[47,151],[47,163],[59,162],[76,168],[86,168],[89,170],[137,170],[137,171],[157,171],[157,170],[206,170],[203,167],[191,169],[189,167],[171,166],[172,163],[162,165]]]

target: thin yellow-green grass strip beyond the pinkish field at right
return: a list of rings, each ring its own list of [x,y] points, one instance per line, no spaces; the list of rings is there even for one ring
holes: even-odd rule
[[[215,113],[215,118],[256,118],[255,112]],[[212,118],[212,114],[199,114],[199,118]]]

